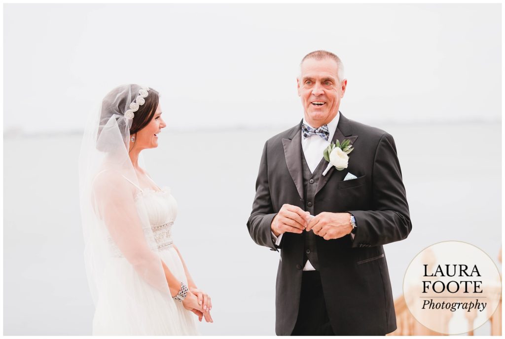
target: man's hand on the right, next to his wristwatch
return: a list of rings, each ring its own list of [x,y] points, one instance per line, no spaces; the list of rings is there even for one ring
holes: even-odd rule
[[[325,240],[338,239],[352,231],[349,213],[322,212],[309,222],[306,230],[322,236]]]

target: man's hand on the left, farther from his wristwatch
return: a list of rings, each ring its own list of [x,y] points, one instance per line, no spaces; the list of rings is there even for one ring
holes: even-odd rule
[[[284,204],[272,220],[270,228],[275,236],[285,232],[301,233],[309,224],[309,217],[310,213],[298,206]]]

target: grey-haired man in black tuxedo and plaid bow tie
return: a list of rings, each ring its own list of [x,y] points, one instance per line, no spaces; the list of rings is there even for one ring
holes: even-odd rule
[[[382,245],[412,228],[395,143],[338,111],[347,80],[336,55],[315,51],[300,67],[304,119],[265,143],[247,222],[258,245],[281,250],[275,332],[384,335],[396,319]],[[323,158],[337,140],[353,149],[343,170]]]

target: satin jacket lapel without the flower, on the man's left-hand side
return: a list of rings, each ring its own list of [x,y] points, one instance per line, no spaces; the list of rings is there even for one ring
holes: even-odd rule
[[[304,199],[304,179],[301,172],[301,157],[303,156],[301,152],[301,124],[293,128],[289,139],[282,139],[282,146],[289,174],[291,174],[300,199]]]

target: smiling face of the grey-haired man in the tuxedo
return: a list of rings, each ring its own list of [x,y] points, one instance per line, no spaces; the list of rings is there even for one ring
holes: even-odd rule
[[[306,59],[296,81],[307,122],[316,128],[329,123],[338,113],[347,84],[338,78],[337,63],[329,58]]]

